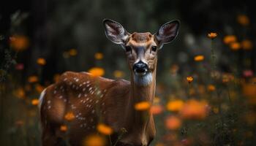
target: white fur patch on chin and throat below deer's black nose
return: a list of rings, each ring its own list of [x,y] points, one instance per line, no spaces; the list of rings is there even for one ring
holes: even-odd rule
[[[134,76],[135,84],[140,86],[146,86],[151,84],[152,82],[152,74],[151,72],[143,72],[143,73],[135,73]]]

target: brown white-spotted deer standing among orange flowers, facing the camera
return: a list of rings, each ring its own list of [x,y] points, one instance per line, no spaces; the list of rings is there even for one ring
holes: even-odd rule
[[[68,128],[69,145],[83,145],[84,137],[97,134],[97,124],[113,129],[110,143],[126,146],[150,145],[156,135],[154,115],[135,110],[141,101],[153,103],[156,91],[157,53],[178,35],[179,20],[163,24],[157,33],[130,34],[120,23],[104,19],[106,37],[121,45],[127,56],[130,80],[111,80],[89,72],[64,72],[39,97],[42,145],[65,145],[60,126],[72,111],[75,119]],[[120,129],[126,130],[118,137]]]

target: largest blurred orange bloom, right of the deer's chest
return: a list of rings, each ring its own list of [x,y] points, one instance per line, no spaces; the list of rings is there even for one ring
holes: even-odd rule
[[[196,101],[191,99],[184,104],[180,114],[185,119],[197,119],[202,120],[207,115],[207,104],[206,101]]]

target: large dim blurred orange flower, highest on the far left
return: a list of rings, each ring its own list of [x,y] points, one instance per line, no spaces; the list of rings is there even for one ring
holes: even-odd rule
[[[16,51],[26,50],[29,47],[29,38],[23,35],[10,37],[10,47]]]

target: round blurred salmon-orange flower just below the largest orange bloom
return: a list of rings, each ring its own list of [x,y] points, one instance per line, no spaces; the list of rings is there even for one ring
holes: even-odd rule
[[[170,130],[176,130],[181,127],[181,120],[176,116],[171,115],[166,118],[165,126]]]

